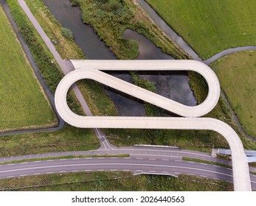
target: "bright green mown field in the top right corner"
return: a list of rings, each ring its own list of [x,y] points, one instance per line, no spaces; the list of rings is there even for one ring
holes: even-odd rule
[[[146,0],[201,58],[256,45],[255,0]]]

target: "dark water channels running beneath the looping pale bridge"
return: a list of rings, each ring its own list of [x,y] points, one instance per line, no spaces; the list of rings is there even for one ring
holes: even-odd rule
[[[46,6],[55,15],[55,18],[63,25],[72,30],[75,43],[83,49],[84,54],[91,60],[116,60],[114,53],[94,33],[91,26],[81,21],[79,7],[72,7],[69,0],[44,0]],[[136,40],[139,43],[139,60],[170,60],[173,57],[164,54],[150,40],[127,29],[124,38]],[[109,72],[127,82],[131,82],[128,72]],[[149,79],[157,84],[157,93],[186,105],[196,105],[196,100],[190,90],[189,79],[186,73],[164,73],[141,72],[140,77]],[[120,116],[145,116],[145,107],[138,99],[125,96],[114,90],[105,90],[114,101]]]

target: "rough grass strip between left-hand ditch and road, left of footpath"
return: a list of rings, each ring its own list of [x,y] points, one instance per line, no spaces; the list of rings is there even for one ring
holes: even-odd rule
[[[78,129],[69,125],[55,132],[33,132],[5,135],[0,138],[0,157],[47,152],[86,151],[99,148],[92,129]]]

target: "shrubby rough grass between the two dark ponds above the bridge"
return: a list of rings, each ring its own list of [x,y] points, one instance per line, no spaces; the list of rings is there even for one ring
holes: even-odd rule
[[[162,34],[134,1],[78,0],[82,18],[90,24],[105,45],[114,51],[119,59],[134,59],[138,45],[134,40],[123,39],[125,29],[133,29],[159,46],[165,53],[177,59],[187,58],[181,49]]]

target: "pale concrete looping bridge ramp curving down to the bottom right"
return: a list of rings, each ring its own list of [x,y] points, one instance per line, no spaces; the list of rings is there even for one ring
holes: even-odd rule
[[[226,138],[232,151],[235,191],[251,191],[249,167],[239,136],[222,121],[214,118],[197,118],[209,113],[217,104],[220,96],[218,78],[207,65],[195,60],[72,60],[72,63],[76,70],[67,74],[55,91],[56,109],[68,124],[80,128],[210,129],[219,132]],[[196,71],[206,79],[209,93],[203,103],[189,107],[112,77],[100,70]],[[145,102],[184,116],[184,118],[78,116],[69,109],[66,95],[72,84],[80,79],[94,79]]]

